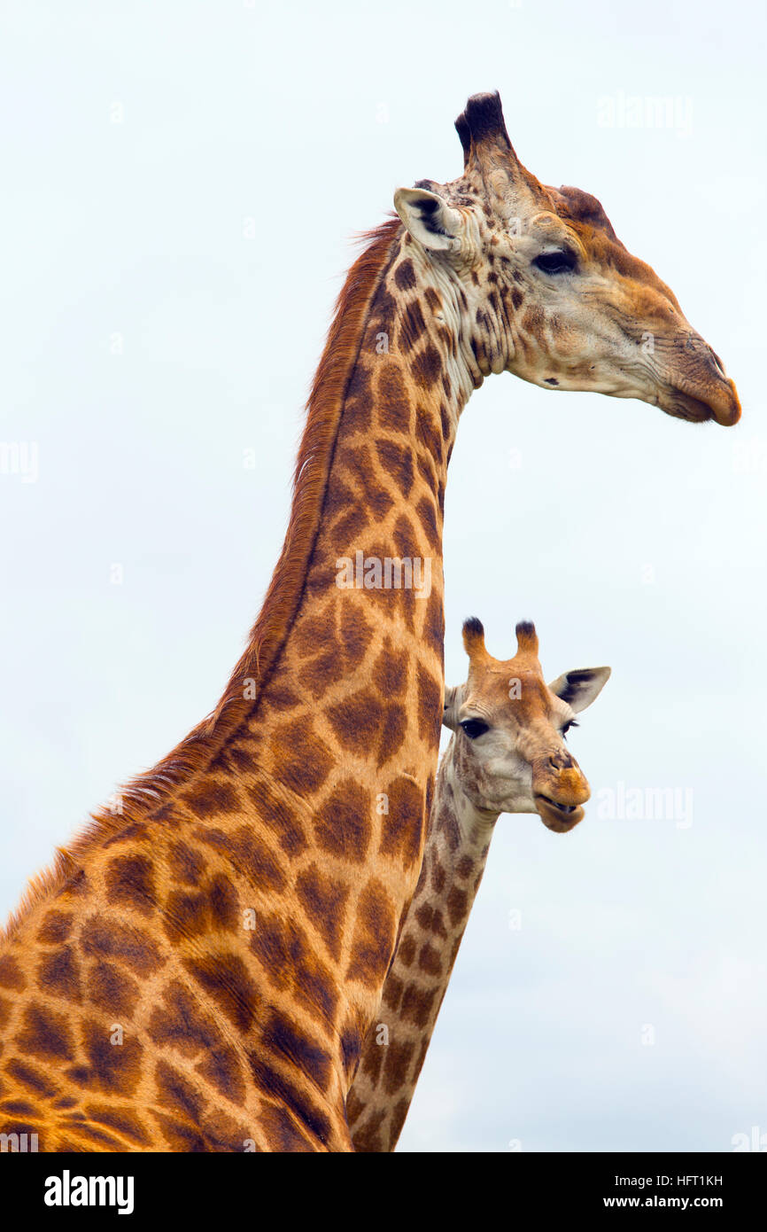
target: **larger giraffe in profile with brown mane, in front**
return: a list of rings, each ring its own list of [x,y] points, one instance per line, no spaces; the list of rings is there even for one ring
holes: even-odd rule
[[[398,191],[348,274],[282,554],[217,710],[10,923],[0,1129],[43,1151],[351,1148],[346,1093],[421,865],[442,504],[469,394],[507,368],[739,416],[600,203],[522,166],[497,95],[457,127],[462,176]],[[428,585],[379,588],[387,558]]]

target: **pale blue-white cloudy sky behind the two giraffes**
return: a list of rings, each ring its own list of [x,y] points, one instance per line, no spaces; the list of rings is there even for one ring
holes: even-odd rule
[[[744,418],[508,375],[464,413],[448,683],[470,614],[500,658],[526,617],[550,678],[613,675],[570,742],[586,819],[497,824],[400,1149],[767,1132],[763,20],[744,0],[2,7],[0,442],[37,450],[0,474],[2,913],[214,705],[279,551],[348,239],[398,186],[456,177],[453,120],[499,89],[520,158],[601,198]],[[598,804],[653,788],[683,814]]]

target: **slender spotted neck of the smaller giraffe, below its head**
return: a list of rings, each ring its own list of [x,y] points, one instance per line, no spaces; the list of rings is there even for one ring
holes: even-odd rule
[[[348,1094],[356,1151],[385,1152],[396,1145],[497,818],[497,813],[476,808],[462,790],[453,737],[437,775],[421,875]]]

